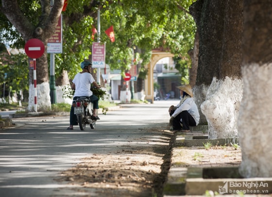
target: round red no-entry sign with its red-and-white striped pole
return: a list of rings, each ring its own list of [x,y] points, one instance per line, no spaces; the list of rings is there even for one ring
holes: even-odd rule
[[[39,39],[33,38],[26,42],[25,52],[28,57],[33,59],[34,70],[33,70],[33,79],[34,79],[34,110],[37,112],[37,79],[36,79],[36,58],[39,58],[44,53],[44,44]]]

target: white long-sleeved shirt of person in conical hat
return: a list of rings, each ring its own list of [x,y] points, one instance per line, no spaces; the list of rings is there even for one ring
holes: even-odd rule
[[[193,98],[191,98],[191,97],[187,97],[184,99],[185,100],[183,102],[181,101],[178,105],[176,105],[177,109],[175,110],[175,112],[171,116],[176,117],[182,111],[187,110],[187,112],[194,118],[196,125],[198,125],[200,115],[198,112],[197,105],[195,104]]]

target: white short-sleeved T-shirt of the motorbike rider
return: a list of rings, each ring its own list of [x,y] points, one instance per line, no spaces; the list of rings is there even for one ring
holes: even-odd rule
[[[90,73],[77,73],[72,82],[76,85],[74,97],[90,97],[93,95],[91,83],[95,80]]]

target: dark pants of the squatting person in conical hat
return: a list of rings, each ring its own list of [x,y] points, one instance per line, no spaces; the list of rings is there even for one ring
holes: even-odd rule
[[[171,110],[170,116],[174,113],[174,110]],[[182,122],[180,122],[182,119]],[[180,125],[182,123],[182,127]],[[196,126],[195,119],[187,111],[182,111],[173,119],[173,130],[190,130],[189,126]]]

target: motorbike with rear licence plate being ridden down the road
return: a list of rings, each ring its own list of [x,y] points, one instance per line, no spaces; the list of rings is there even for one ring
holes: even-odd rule
[[[84,131],[86,124],[89,124],[91,129],[95,128],[96,118],[93,116],[93,103],[86,97],[80,97],[73,100],[74,114],[77,116],[77,122],[80,130]]]

